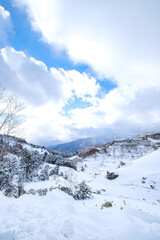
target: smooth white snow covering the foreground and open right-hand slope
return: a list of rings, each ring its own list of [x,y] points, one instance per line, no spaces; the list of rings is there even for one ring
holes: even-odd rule
[[[119,163],[97,155],[78,163],[78,171],[61,167],[68,180],[57,177],[25,185],[37,189],[85,180],[95,192],[88,200],[74,200],[58,188],[45,196],[18,199],[0,193],[0,240],[159,240],[160,151],[125,160],[126,165],[117,168]],[[107,170],[119,177],[106,179]],[[106,201],[112,207],[101,208]]]

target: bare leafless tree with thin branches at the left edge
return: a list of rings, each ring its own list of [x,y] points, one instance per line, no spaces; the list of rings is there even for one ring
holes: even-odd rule
[[[3,135],[3,147],[0,150],[0,157],[6,147],[6,136],[15,134],[15,130],[22,123],[20,112],[24,104],[20,103],[16,96],[10,95],[0,87],[0,134]]]

